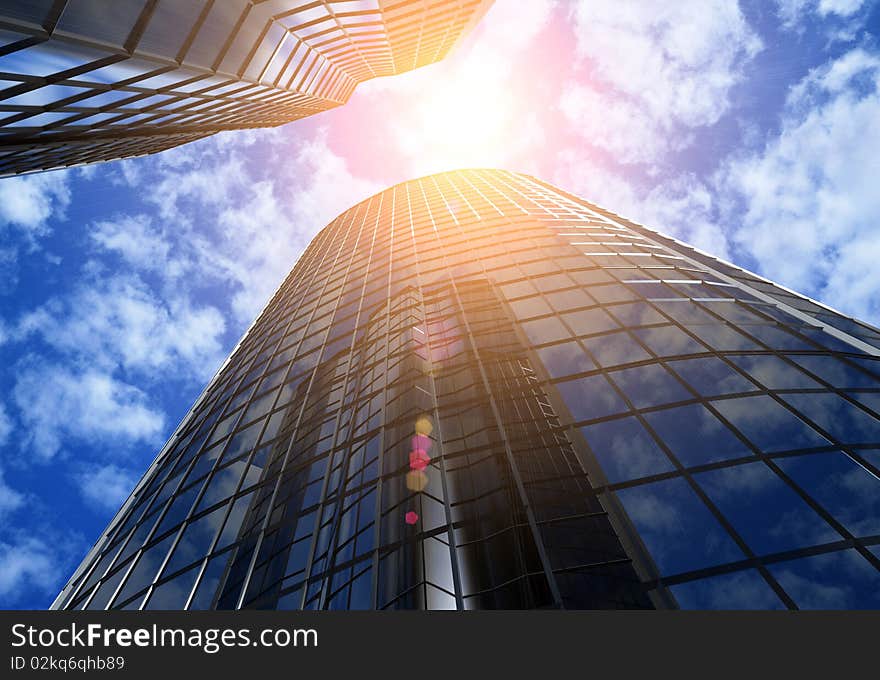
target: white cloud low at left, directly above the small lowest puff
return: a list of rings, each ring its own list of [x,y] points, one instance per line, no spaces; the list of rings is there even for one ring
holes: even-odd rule
[[[68,440],[102,454],[132,444],[156,444],[162,412],[147,395],[94,368],[76,370],[29,357],[22,362],[13,399],[24,426],[22,450],[39,461],[54,457]]]

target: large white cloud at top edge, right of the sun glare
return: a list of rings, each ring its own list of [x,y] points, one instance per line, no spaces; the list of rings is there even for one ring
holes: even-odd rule
[[[560,109],[625,163],[659,160],[688,143],[688,129],[716,123],[762,47],[728,0],[582,0],[572,17],[582,77]]]

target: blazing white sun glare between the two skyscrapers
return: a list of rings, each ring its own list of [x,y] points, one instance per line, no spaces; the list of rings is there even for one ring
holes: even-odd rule
[[[542,74],[526,62],[556,7],[546,0],[503,0],[442,62],[358,87],[352,104],[376,124],[394,124],[391,158],[405,177],[465,167],[530,169],[545,141]],[[380,133],[384,134],[384,133]],[[382,187],[384,188],[384,187]]]

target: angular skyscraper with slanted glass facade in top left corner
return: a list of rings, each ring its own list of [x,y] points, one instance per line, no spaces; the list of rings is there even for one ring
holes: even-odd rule
[[[339,106],[442,59],[490,0],[4,0],[0,177]]]

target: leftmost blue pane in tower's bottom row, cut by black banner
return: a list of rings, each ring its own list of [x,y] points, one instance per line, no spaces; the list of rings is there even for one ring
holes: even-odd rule
[[[738,571],[672,587],[682,609],[785,609],[754,570]]]

